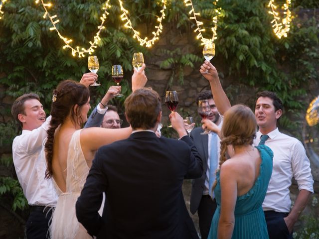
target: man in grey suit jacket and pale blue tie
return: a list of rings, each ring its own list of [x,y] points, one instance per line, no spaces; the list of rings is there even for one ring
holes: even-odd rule
[[[213,99],[211,91],[204,90],[197,96],[199,100],[208,100],[210,105],[210,114],[207,119],[214,122],[221,128],[222,119]],[[201,134],[204,130],[202,127],[196,127],[190,132],[198,153],[203,161],[204,173],[200,178],[194,179],[190,195],[190,212],[194,214],[197,211],[199,230],[202,239],[207,239],[211,220],[216,210],[214,195],[209,192],[215,181],[215,171],[218,167],[220,155],[220,139],[214,132]]]

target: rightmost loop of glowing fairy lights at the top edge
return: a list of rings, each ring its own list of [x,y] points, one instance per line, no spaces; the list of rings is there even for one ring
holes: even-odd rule
[[[290,22],[291,22],[291,11],[289,10],[289,5],[291,4],[291,0],[286,0],[286,3],[284,3],[283,10],[284,14],[286,14],[286,17],[283,18],[281,23],[278,23],[280,21],[280,17],[278,16],[279,13],[276,11],[277,6],[274,4],[274,0],[270,0],[268,7],[271,7],[271,11],[268,11],[269,14],[274,16],[274,20],[271,21],[273,24],[273,30],[276,34],[276,36],[280,39],[283,36],[287,37],[287,32],[290,30]]]

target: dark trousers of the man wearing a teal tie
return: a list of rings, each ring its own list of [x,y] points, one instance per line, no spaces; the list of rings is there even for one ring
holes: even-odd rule
[[[289,233],[284,218],[288,213],[278,213],[275,211],[264,211],[269,239],[293,239],[293,234]]]

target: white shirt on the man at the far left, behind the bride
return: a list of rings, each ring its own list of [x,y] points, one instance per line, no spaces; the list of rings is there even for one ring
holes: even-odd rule
[[[12,143],[15,172],[29,205],[55,206],[58,198],[52,180],[45,178],[44,144],[50,119],[32,131],[22,130]]]

